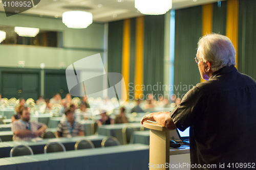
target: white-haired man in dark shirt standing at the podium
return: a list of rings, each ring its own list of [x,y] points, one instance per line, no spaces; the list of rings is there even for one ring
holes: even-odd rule
[[[255,166],[256,82],[237,71],[235,55],[226,36],[202,37],[195,60],[207,81],[189,90],[171,113],[151,113],[141,120],[181,131],[190,127],[191,164],[217,165],[215,169]]]

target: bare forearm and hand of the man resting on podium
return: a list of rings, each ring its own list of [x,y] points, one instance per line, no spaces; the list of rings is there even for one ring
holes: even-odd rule
[[[175,126],[173,119],[170,118],[170,112],[154,112],[147,114],[142,117],[140,123],[143,125],[143,122],[146,120],[151,120],[153,122],[157,122],[159,125],[164,126],[167,129],[174,130],[177,129]]]

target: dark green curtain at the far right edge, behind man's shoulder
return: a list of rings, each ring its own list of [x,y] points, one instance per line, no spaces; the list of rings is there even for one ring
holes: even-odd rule
[[[256,2],[239,1],[238,70],[256,80]]]

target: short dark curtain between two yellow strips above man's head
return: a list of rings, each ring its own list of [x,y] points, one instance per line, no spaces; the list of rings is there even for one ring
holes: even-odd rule
[[[212,32],[226,35],[227,2],[214,3],[212,10]]]

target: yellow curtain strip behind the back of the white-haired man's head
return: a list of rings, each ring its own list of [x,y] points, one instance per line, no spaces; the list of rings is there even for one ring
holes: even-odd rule
[[[238,68],[238,6],[239,0],[227,1],[226,36],[232,41],[236,49],[236,68]]]

